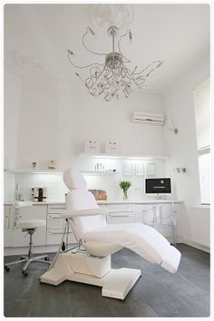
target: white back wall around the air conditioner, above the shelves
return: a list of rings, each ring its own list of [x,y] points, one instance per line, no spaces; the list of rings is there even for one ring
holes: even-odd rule
[[[82,83],[27,79],[20,103],[19,170],[30,168],[34,160],[41,169],[49,160],[56,160],[59,170],[73,162],[78,165],[76,157],[90,138],[99,139],[102,146],[116,140],[122,153],[162,155],[162,127],[131,123],[133,110],[162,111],[158,95],[137,92],[129,99],[102,102],[90,96]]]

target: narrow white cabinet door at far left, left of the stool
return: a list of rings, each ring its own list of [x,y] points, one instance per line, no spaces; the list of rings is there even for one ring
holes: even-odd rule
[[[4,206],[4,246],[9,248],[13,246],[13,224],[14,208],[13,206]]]

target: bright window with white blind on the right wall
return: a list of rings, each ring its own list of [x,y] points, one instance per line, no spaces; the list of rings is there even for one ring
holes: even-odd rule
[[[202,204],[210,204],[210,81],[194,91],[197,146],[199,151],[199,183]]]

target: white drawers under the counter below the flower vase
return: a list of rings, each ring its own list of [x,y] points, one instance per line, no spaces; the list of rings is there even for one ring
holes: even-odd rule
[[[108,204],[107,211],[108,224],[133,222],[133,204]]]

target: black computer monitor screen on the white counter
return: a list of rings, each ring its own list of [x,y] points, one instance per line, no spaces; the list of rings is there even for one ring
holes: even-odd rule
[[[170,178],[145,179],[146,194],[170,194]]]

